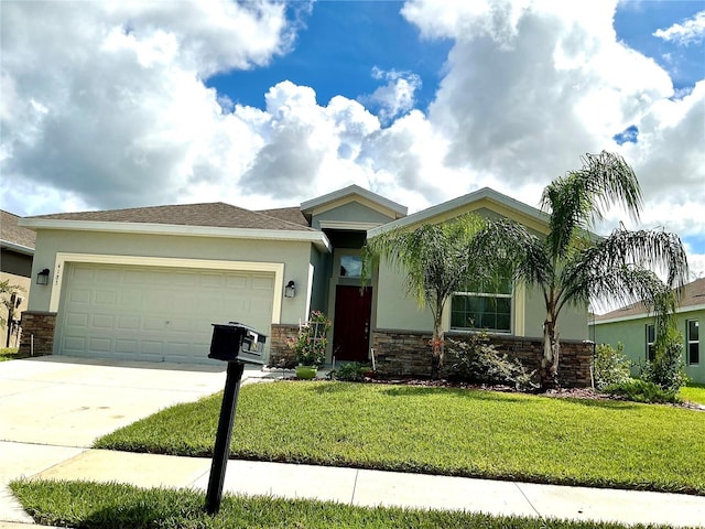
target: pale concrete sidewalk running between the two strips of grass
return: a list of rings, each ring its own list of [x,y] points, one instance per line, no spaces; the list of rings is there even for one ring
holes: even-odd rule
[[[6,453],[8,444],[12,443],[0,443],[0,453]],[[37,460],[45,455],[46,461],[53,456],[68,456],[35,474],[36,478],[187,487],[203,490],[204,500],[210,472],[209,458],[102,450],[56,454],[52,453],[55,447],[32,445],[15,446],[14,450],[34,451]],[[358,506],[705,527],[705,497],[238,460],[228,462],[225,493],[312,498]],[[21,509],[12,516],[0,512],[8,521],[32,521]]]

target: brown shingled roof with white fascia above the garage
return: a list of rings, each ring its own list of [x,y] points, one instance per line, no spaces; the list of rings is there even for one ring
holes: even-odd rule
[[[221,202],[39,215],[21,219],[20,225],[32,229],[310,241],[330,250],[322,231]]]

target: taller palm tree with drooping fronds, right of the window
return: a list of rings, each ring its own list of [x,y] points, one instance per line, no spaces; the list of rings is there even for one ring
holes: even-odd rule
[[[603,151],[582,161],[582,169],[554,180],[543,192],[541,208],[549,215],[545,238],[502,220],[489,223],[471,242],[475,259],[491,262],[500,256],[511,263],[517,281],[543,294],[543,389],[557,385],[557,322],[566,305],[643,301],[658,311],[664,293],[687,281],[685,251],[675,234],[630,231],[623,226],[605,238],[590,234],[612,205],[638,220],[642,197],[637,176],[621,156]],[[665,273],[666,284],[655,272]]]

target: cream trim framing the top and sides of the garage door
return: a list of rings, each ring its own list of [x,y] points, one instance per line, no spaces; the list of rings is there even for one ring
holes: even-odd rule
[[[209,259],[181,259],[172,257],[113,256],[105,253],[57,252],[54,262],[54,281],[50,298],[50,312],[58,312],[65,264],[67,262],[89,262],[95,264],[128,264],[137,267],[191,268],[198,270],[229,270],[246,272],[273,272],[274,299],[272,300],[272,323],[281,322],[282,295],[284,287],[283,262],[220,261]],[[276,295],[279,292],[279,295]]]

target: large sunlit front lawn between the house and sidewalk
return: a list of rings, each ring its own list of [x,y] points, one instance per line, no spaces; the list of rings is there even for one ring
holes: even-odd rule
[[[220,395],[97,447],[210,456]],[[240,392],[232,457],[705,495],[705,413],[633,402],[346,382]]]

